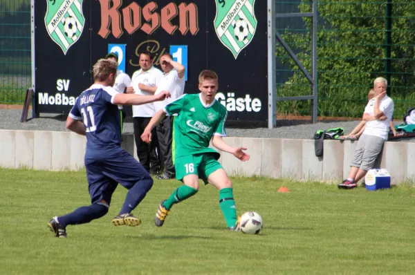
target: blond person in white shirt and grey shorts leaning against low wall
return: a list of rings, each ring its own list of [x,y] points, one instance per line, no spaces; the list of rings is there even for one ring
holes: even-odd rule
[[[362,117],[362,120],[366,121],[365,131],[363,131],[356,146],[349,178],[338,184],[341,189],[357,187],[357,182],[365,177],[369,169],[374,167],[377,159],[382,158],[383,144],[387,140],[389,124],[394,114],[394,102],[386,95],[386,88],[387,80],[385,78],[378,77],[375,79],[374,90],[376,95],[374,99],[369,100]],[[381,120],[381,117],[384,119]]]

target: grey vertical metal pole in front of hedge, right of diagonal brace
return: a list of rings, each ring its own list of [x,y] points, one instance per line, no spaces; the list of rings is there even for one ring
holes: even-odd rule
[[[317,0],[313,0],[313,25],[311,26],[311,41],[313,43],[311,49],[311,70],[313,75],[313,116],[311,118],[312,122],[317,122]]]

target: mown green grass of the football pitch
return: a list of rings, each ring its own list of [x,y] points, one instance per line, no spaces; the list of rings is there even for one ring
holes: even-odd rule
[[[239,214],[257,211],[259,236],[225,230],[218,192],[201,187],[175,205],[161,228],[153,218],[179,182],[156,181],[135,214],[140,227],[113,227],[125,196],[109,214],[69,226],[68,238],[46,228],[55,215],[89,204],[83,171],[0,169],[2,274],[412,274],[415,189],[345,191],[335,185],[234,178]],[[290,193],[277,193],[281,186]]]

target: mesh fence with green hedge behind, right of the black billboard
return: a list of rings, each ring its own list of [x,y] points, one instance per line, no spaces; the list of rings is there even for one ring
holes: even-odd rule
[[[317,1],[318,115],[361,117],[376,77],[389,82],[394,119],[415,107],[415,2]],[[276,0],[276,12],[311,12],[311,1]],[[276,19],[276,30],[311,69],[311,19]],[[311,85],[286,50],[276,49],[277,95],[310,95]],[[277,102],[277,113],[311,115],[311,102]]]

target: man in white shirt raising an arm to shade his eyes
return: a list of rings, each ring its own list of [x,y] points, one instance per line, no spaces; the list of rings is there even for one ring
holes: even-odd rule
[[[160,66],[163,70],[163,78],[158,84],[156,95],[162,91],[169,91],[172,98],[163,102],[154,102],[156,113],[164,106],[181,97],[185,91],[185,66],[173,60],[172,55],[165,53],[160,57]],[[167,116],[157,125],[157,138],[160,149],[161,160],[164,164],[164,173],[157,176],[159,180],[169,180],[176,176],[172,158],[173,143],[173,117]]]

